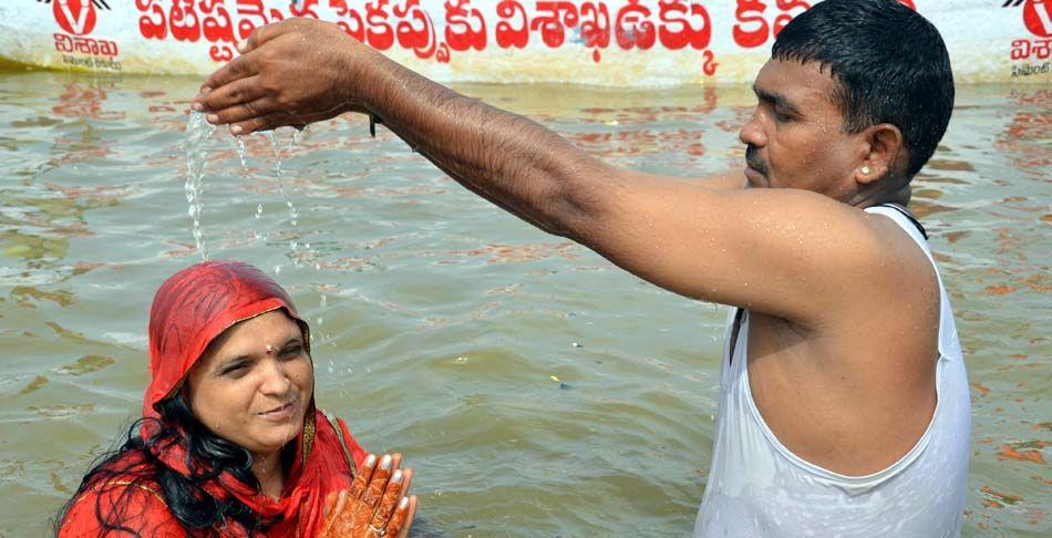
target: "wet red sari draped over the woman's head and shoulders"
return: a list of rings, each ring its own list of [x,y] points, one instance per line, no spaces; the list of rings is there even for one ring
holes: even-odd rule
[[[252,266],[206,261],[166,280],[157,290],[149,311],[152,381],[143,399],[143,416],[159,420],[157,405],[178,393],[187,372],[213,339],[240,321],[277,309],[283,309],[299,323],[309,350],[309,329],[296,313],[288,294]],[[157,428],[156,422],[151,420],[144,422],[144,439]],[[206,483],[204,489],[216,499],[236,497],[262,520],[276,521],[264,531],[249,532],[229,521],[210,532],[231,538],[317,535],[323,524],[326,496],[348,488],[354,469],[365,458],[365,451],[347,431],[343,421],[334,422],[314,408],[311,397],[303,432],[295,441],[296,456],[287,469],[280,498],[264,495],[228,472]],[[189,475],[183,443],[177,441],[154,455],[166,467]],[[207,462],[197,464],[207,466]],[[159,486],[151,478],[156,470],[149,468],[153,464],[144,463],[142,454],[127,452],[107,465],[117,470],[116,476],[92,484],[80,494],[63,520],[60,537],[101,536],[100,517],[144,537],[190,534],[168,509]]]

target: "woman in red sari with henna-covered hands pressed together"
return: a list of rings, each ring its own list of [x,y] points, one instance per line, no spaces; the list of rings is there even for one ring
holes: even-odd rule
[[[59,536],[405,536],[412,469],[314,407],[309,351],[307,323],[255,267],[172,276],[149,311],[143,418],[84,477]]]

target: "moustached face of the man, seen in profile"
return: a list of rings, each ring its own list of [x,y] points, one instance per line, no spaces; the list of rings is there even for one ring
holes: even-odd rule
[[[842,201],[855,194],[866,145],[843,131],[835,84],[816,62],[771,59],[760,70],[753,85],[760,102],[739,135],[750,187],[801,188]]]

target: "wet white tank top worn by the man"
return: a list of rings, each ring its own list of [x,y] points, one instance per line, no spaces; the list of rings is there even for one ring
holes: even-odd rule
[[[895,220],[935,266],[924,236],[901,213],[890,207],[866,211]],[[734,350],[730,349],[730,327],[721,366],[712,468],[694,536],[959,536],[967,494],[971,402],[941,277],[939,293],[935,415],[905,456],[867,476],[824,469],[778,442],[760,415],[749,387],[749,312],[742,318]],[[731,325],[733,321],[734,311]]]

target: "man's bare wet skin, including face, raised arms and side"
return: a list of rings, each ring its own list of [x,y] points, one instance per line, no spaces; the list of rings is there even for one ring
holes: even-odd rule
[[[209,121],[248,133],[368,112],[524,220],[664,289],[749,309],[753,397],[801,457],[869,474],[927,426],[936,275],[896,224],[862,211],[908,200],[903,137],[887,124],[844,132],[817,65],[769,62],[741,133],[751,168],[684,182],[607,165],[326,23],[266,27],[243,52],[195,99]]]

